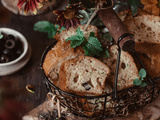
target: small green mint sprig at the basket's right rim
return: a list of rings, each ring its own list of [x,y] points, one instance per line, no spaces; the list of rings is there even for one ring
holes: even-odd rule
[[[136,86],[141,86],[141,87],[145,87],[147,86],[147,83],[144,82],[144,78],[146,77],[147,73],[146,73],[146,70],[145,69],[141,69],[139,71],[139,78],[136,78],[134,81],[133,81],[133,84],[136,85]]]

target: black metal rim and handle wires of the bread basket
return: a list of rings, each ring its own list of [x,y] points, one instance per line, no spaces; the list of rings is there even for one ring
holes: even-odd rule
[[[119,47],[119,42],[120,42],[124,37],[128,37],[128,36],[134,38],[132,34],[129,34],[129,33],[123,34],[122,36],[120,36],[120,38],[119,38],[119,40],[118,40],[118,47]],[[106,94],[100,95],[100,96],[80,96],[80,95],[76,95],[76,94],[73,94],[73,93],[68,93],[68,92],[65,92],[65,91],[61,90],[60,88],[56,87],[56,86],[48,79],[48,77],[47,77],[46,74],[44,73],[44,70],[42,69],[43,62],[44,62],[44,59],[45,59],[48,51],[51,50],[51,49],[56,45],[56,43],[57,43],[57,42],[56,42],[56,40],[55,40],[55,42],[53,42],[51,45],[49,45],[49,46],[45,49],[45,51],[43,52],[42,57],[41,57],[41,64],[40,64],[40,66],[41,66],[41,72],[42,72],[43,79],[45,80],[45,84],[46,84],[46,87],[47,87],[47,89],[48,89],[49,92],[53,92],[52,89],[51,89],[51,87],[53,87],[55,90],[58,90],[58,92],[63,93],[63,94],[65,94],[65,95],[67,95],[67,96],[70,96],[70,97],[84,98],[84,99],[95,99],[95,98],[106,98],[107,96],[112,95],[112,96],[113,96],[112,99],[117,99],[117,94],[119,94],[119,93],[121,93],[121,92],[124,92],[124,91],[128,91],[129,89],[134,89],[134,88],[137,88],[137,87],[138,87],[138,86],[133,86],[133,87],[129,87],[129,88],[124,89],[124,90],[117,91],[117,80],[118,80],[118,70],[119,70],[118,68],[119,68],[120,56],[121,56],[121,49],[120,49],[120,47],[119,47],[119,48],[118,48],[117,66],[116,66],[116,75],[115,75],[115,86],[114,86],[114,89],[113,89],[113,92],[112,92],[112,93],[109,93],[109,94],[106,93]],[[141,62],[141,60],[140,60],[140,58],[139,58],[139,56],[138,56],[138,54],[137,54],[137,52],[136,52],[135,49],[133,49],[133,53],[135,54],[135,56],[136,56],[137,60],[139,61],[141,67],[145,69],[145,67],[144,67],[143,63]],[[145,70],[146,70],[146,69],[145,69]],[[152,97],[151,97],[151,100],[150,100],[150,102],[151,102],[151,101],[153,100],[153,98],[154,98],[154,89],[155,89],[155,86],[156,86],[156,85],[155,85],[155,81],[160,80],[160,77],[159,77],[159,78],[156,78],[156,79],[151,79],[151,77],[150,77],[149,74],[147,73],[147,78],[148,78],[148,82],[153,86],[153,89],[152,89]],[[105,99],[104,103],[106,103],[106,99]],[[106,109],[106,107],[105,107],[105,105],[104,105],[104,110],[103,110],[102,116],[104,116],[105,109]],[[85,117],[87,117],[87,116],[85,116]]]

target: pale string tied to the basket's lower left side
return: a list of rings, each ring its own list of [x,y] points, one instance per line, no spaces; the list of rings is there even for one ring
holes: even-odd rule
[[[51,97],[51,96],[52,96],[52,97]],[[56,102],[55,99],[57,99],[58,118],[61,118],[60,100],[58,99],[57,95],[49,92],[49,93],[47,94],[47,97],[48,97],[48,99],[51,100],[51,102],[53,103],[53,105],[54,105],[54,103]]]

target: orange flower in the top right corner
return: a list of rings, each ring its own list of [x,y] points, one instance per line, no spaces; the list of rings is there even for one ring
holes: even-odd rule
[[[141,0],[141,3],[144,5],[143,10],[146,10],[152,15],[159,16],[160,5],[159,5],[158,0]]]

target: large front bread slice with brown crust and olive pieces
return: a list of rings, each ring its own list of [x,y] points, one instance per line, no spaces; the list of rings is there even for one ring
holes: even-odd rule
[[[98,59],[82,55],[65,61],[59,74],[62,90],[78,95],[101,95],[110,69]]]

